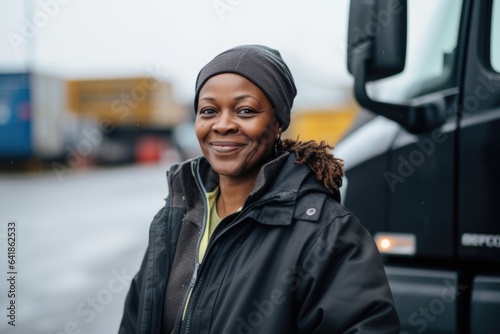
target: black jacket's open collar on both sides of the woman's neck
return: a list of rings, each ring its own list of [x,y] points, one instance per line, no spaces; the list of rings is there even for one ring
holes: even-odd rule
[[[185,219],[201,227],[205,214],[204,196],[218,185],[217,173],[200,156],[172,167],[170,174],[172,188],[182,189],[181,193],[172,194],[177,198],[173,202],[186,209]],[[297,198],[318,191],[324,198],[327,191],[316,181],[309,167],[296,164],[295,154],[285,152],[262,166],[254,189],[243,205],[242,214],[262,224],[290,225],[294,217],[304,216],[302,211],[310,209],[302,210],[300,205],[297,206]],[[319,216],[320,211],[321,207],[315,208],[314,216]]]

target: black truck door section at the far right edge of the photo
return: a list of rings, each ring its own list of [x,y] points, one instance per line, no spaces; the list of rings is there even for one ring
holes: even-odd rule
[[[459,132],[458,254],[469,263],[471,333],[500,328],[500,0],[475,1]]]

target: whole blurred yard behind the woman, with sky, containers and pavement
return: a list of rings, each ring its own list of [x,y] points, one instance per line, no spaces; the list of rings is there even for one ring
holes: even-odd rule
[[[194,83],[218,53],[281,52],[298,88],[286,137],[335,145],[358,112],[347,0],[0,6],[1,333],[117,332],[165,171],[199,154]],[[15,327],[4,298],[11,221]]]

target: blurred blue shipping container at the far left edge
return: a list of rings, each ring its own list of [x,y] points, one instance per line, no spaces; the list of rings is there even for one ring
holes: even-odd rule
[[[29,74],[0,74],[0,158],[31,155]]]

